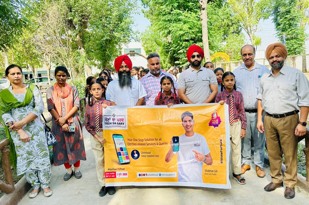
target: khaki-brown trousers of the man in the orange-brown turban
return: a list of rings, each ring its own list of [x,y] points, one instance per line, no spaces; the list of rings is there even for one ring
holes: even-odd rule
[[[294,135],[294,132],[298,121],[298,114],[283,118],[273,118],[266,114],[264,121],[272,182],[282,182],[281,165],[283,151],[286,165],[283,182],[288,187],[294,187],[297,182],[298,137]]]

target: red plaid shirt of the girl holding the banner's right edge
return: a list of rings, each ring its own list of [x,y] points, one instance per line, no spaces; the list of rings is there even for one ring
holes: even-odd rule
[[[247,119],[245,108],[243,107],[243,94],[237,90],[233,90],[231,94],[229,94],[225,89],[222,92],[218,93],[215,99],[215,102],[219,102],[221,100],[226,100],[226,103],[229,105],[229,113],[231,111],[231,98],[233,97],[234,101],[234,119],[240,119],[241,128],[246,129],[247,127]]]

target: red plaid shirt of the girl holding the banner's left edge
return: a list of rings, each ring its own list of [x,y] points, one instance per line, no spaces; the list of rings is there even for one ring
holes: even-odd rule
[[[96,119],[97,119],[97,107],[99,107],[99,128],[102,129],[102,119],[103,119],[103,107],[102,104],[107,104],[108,106],[112,106],[112,103],[104,98],[99,100],[95,100],[92,96],[93,106],[90,106],[88,103],[86,104],[86,113],[85,113],[85,128],[91,134],[98,134]]]

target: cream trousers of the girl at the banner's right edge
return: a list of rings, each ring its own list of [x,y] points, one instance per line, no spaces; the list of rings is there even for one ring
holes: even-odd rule
[[[230,139],[231,139],[231,150],[232,150],[232,162],[233,162],[233,173],[241,174],[241,122],[235,122],[232,126],[230,124]]]

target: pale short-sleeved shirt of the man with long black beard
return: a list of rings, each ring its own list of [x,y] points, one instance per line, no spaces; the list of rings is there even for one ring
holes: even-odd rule
[[[140,98],[147,96],[141,82],[131,77],[132,85],[127,88],[119,87],[119,78],[108,83],[106,99],[115,102],[116,105],[135,106]]]

